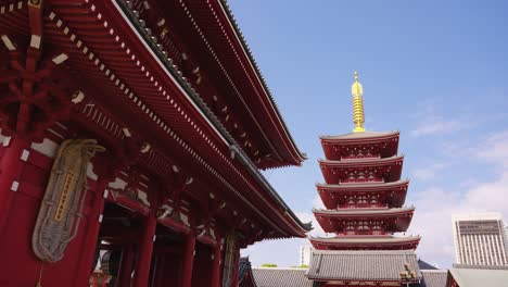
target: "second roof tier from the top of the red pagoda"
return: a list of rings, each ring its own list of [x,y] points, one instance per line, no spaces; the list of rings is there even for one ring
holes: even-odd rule
[[[385,159],[355,159],[343,161],[318,160],[327,184],[386,182],[401,179],[404,157]]]

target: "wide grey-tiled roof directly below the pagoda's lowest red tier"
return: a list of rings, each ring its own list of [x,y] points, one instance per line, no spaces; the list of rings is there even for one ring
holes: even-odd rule
[[[404,264],[421,279],[414,251],[322,251],[316,250],[307,277],[310,279],[393,280],[401,279]],[[380,266],[383,266],[380,269]]]

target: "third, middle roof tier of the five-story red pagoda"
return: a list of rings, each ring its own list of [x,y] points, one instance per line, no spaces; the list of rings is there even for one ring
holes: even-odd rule
[[[401,208],[406,200],[406,191],[409,180],[393,183],[363,183],[327,185],[317,184],[318,194],[327,209],[335,209],[346,204],[350,196],[379,196],[379,201],[390,208]]]

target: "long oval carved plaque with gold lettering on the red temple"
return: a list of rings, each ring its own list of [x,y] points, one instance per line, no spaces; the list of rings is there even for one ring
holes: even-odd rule
[[[40,260],[61,260],[76,237],[87,195],[88,162],[104,150],[94,139],[67,139],[60,146],[31,237]]]

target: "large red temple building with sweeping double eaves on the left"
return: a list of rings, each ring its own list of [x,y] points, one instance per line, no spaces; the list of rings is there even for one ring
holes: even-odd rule
[[[241,248],[309,230],[225,0],[0,0],[0,286],[238,286]]]

